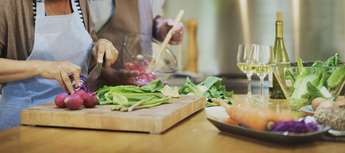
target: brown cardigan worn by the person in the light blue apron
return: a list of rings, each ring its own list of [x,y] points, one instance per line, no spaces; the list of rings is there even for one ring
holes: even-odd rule
[[[84,24],[94,42],[94,23],[88,0],[79,0]],[[0,58],[26,60],[34,47],[35,22],[32,0],[0,0]],[[1,66],[0,66],[1,67]],[[1,88],[4,84],[1,85]]]

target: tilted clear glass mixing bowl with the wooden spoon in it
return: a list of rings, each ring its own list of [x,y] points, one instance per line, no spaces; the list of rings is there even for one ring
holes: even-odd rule
[[[161,50],[162,43],[157,39],[141,34],[129,33],[123,39],[123,63],[127,71],[139,70],[136,81],[149,83],[161,79],[166,80],[177,70],[177,60],[171,50],[166,47],[158,60],[158,66],[153,68],[154,59]]]

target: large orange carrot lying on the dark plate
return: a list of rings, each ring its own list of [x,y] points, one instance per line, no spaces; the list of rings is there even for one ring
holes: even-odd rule
[[[229,107],[226,109],[228,115],[238,124],[244,125],[254,130],[266,130],[269,121],[288,121],[294,120],[294,117],[286,113],[274,113],[269,110],[262,110],[247,107]]]

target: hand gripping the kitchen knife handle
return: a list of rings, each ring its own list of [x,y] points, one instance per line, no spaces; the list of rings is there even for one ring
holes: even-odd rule
[[[109,40],[98,39],[92,47],[92,55],[97,60],[97,63],[105,62],[104,67],[107,68],[115,63],[119,52]],[[103,57],[105,57],[105,61],[103,61]]]

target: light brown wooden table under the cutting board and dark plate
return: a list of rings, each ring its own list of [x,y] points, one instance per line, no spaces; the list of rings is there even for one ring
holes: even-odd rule
[[[270,99],[273,104],[258,105],[231,98],[235,105],[291,113],[286,99]],[[343,95],[340,97],[343,98]],[[118,132],[62,127],[20,125],[0,131],[0,152],[343,152],[345,143],[316,141],[279,146],[220,132],[206,120],[204,110],[172,126],[163,134]]]

